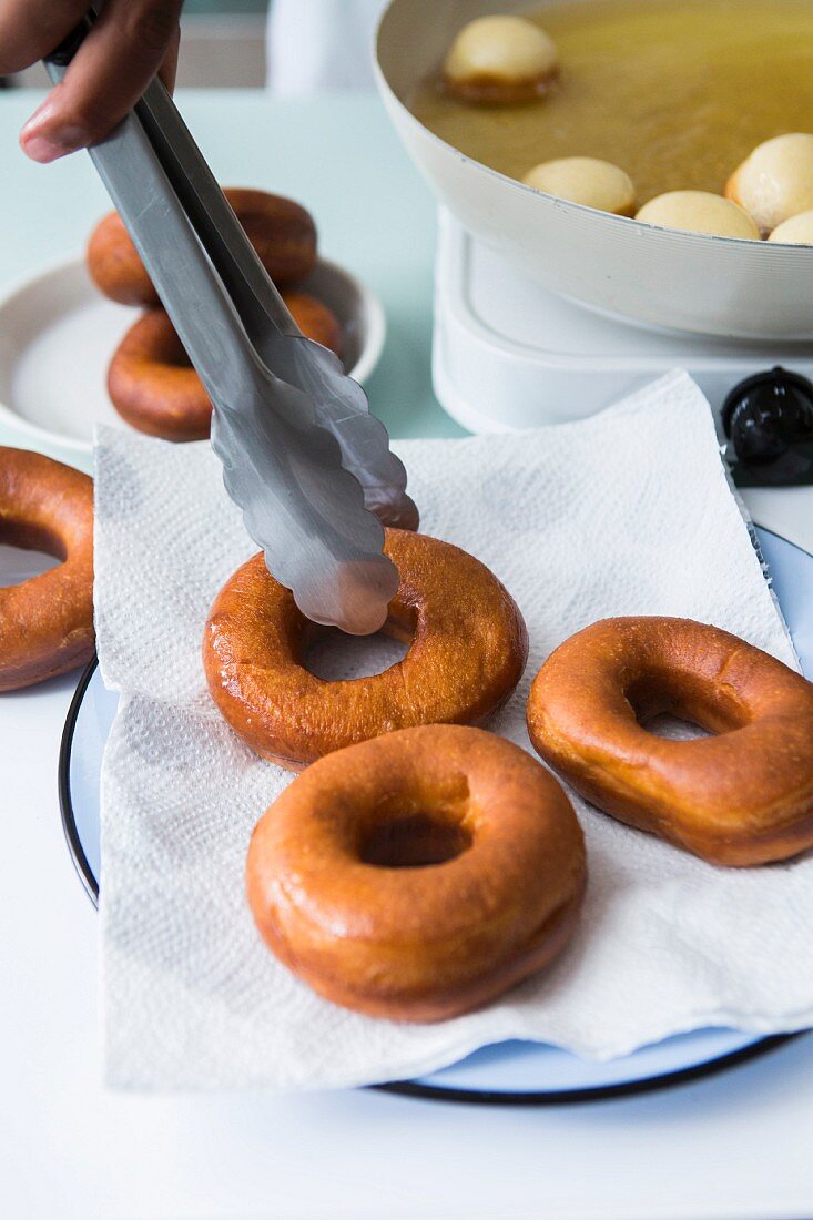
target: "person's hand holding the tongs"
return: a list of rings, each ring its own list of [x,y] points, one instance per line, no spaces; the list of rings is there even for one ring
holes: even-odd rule
[[[23,127],[33,161],[55,161],[104,139],[156,72],[170,88],[178,56],[183,0],[107,0],[101,16]],[[88,0],[0,0],[0,76],[44,59],[71,33]]]

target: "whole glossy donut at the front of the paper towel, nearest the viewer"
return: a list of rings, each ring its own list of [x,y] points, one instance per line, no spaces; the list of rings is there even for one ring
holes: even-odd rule
[[[337,750],[254,830],[260,935],[319,994],[371,1016],[442,1021],[542,970],[586,882],[573,806],[530,754],[428,725]]]

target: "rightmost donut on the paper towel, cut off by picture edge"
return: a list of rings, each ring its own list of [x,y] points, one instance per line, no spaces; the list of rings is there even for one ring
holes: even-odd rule
[[[715,736],[647,732],[662,712]],[[813,684],[718,627],[593,623],[537,673],[527,725],[546,762],[594,805],[710,864],[813,845]]]

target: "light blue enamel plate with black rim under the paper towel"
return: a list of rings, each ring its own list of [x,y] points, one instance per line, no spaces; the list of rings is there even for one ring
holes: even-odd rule
[[[813,556],[757,529],[774,589],[804,671],[813,673]],[[99,780],[118,697],[88,666],[68,711],[60,754],[60,804],[68,847],[90,899],[99,897]],[[383,1088],[442,1100],[584,1102],[680,1083],[742,1063],[786,1042],[736,1030],[697,1030],[597,1064],[555,1047],[505,1042],[442,1071]]]

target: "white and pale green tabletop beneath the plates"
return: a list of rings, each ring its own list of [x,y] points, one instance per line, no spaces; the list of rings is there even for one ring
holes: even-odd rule
[[[454,433],[431,399],[432,206],[374,101],[184,111],[226,182],[315,207],[323,248],[383,296],[376,409],[396,434]],[[0,96],[0,285],[81,249],[105,201],[89,162],[28,165],[29,99]],[[370,168],[375,166],[375,174]],[[0,429],[0,443],[24,442]],[[59,450],[51,450],[59,456]],[[813,550],[813,492],[750,497]],[[813,1214],[813,1038],[674,1091],[549,1109],[371,1092],[115,1094],[100,1083],[96,916],[59,822],[76,677],[0,697],[0,1215],[10,1220],[573,1218]]]

